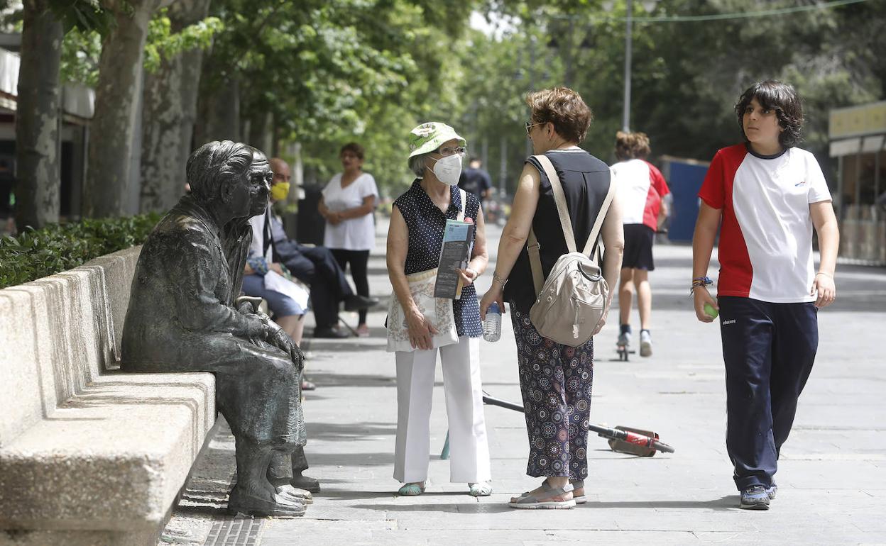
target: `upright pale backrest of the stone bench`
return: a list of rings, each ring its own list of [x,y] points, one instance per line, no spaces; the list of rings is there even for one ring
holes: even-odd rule
[[[119,366],[140,251],[0,290],[0,448]]]

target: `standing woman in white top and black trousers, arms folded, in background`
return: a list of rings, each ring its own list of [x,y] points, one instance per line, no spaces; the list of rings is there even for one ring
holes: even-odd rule
[[[372,211],[376,208],[378,188],[376,179],[363,173],[363,147],[356,142],[348,142],[341,147],[342,173],[332,177],[318,209],[326,219],[326,235],[323,246],[332,250],[332,255],[342,270],[351,265],[351,278],[357,294],[369,296],[367,264],[369,250],[375,248],[376,229]],[[366,310],[360,311],[357,335],[369,335],[366,326]]]

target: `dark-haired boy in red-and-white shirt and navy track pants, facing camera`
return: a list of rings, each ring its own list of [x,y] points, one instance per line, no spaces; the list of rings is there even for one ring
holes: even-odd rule
[[[692,296],[719,310],[727,380],[727,451],[741,508],[766,510],[815,352],[817,312],[834,301],[839,234],[824,175],[794,146],[803,110],[793,87],[761,81],[735,105],[745,142],[717,152],[698,196]],[[708,265],[722,219],[715,302]],[[812,227],[819,235],[812,267]]]

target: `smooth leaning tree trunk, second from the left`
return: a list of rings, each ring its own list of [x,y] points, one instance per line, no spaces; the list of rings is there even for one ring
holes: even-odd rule
[[[116,26],[102,43],[98,59],[96,114],[90,125],[89,171],[83,187],[83,215],[121,216],[132,203],[139,98],[142,93],[144,40],[148,22],[164,0],[107,3]]]

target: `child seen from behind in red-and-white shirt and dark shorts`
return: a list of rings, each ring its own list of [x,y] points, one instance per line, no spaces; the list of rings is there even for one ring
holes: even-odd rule
[[[631,340],[631,305],[637,292],[640,311],[640,356],[652,356],[652,289],[649,272],[656,268],[652,261],[652,243],[656,232],[667,217],[662,197],[671,192],[664,176],[649,163],[649,136],[645,133],[615,135],[615,155],[618,163],[612,165],[612,181],[618,189],[622,223],[625,227],[625,255],[621,263],[618,288],[620,327],[618,347],[627,347]]]

